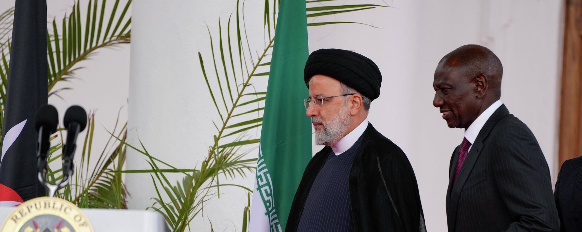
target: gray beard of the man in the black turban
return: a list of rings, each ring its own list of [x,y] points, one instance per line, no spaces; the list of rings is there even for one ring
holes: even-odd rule
[[[342,139],[343,133],[346,132],[352,119],[350,118],[350,113],[346,104],[346,106],[342,106],[339,113],[329,119],[329,121],[324,122],[320,118],[311,118],[311,122],[322,124],[324,126],[323,129],[315,129],[315,144],[331,146]]]

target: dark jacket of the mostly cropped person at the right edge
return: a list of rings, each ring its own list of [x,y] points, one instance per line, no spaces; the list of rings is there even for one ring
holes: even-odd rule
[[[582,232],[582,157],[562,164],[554,193],[562,232]]]

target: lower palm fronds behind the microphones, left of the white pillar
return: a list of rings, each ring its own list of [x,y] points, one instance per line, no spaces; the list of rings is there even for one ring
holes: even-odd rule
[[[121,168],[125,162],[125,142],[127,124],[118,128],[119,120],[115,123],[112,135],[101,154],[97,157],[96,164],[91,167],[91,151],[93,150],[93,135],[95,132],[95,113],[90,113],[88,118],[87,134],[83,140],[81,162],[76,162],[74,177],[63,189],[59,190],[56,197],[73,202],[81,208],[108,208],[126,209],[127,191],[122,182]],[[57,142],[49,149],[47,182],[56,183],[63,178],[62,168],[52,170],[51,164],[58,163],[62,157],[63,128],[60,128],[51,141]],[[113,136],[113,134],[117,134]],[[119,138],[120,141],[116,138]]]

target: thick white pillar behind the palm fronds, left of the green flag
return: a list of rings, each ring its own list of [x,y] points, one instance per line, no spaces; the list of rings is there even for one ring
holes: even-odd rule
[[[257,50],[263,44],[262,3],[248,1],[245,5],[251,47]],[[222,27],[226,28],[236,1],[143,0],[132,5],[128,141],[141,148],[141,140],[152,156],[176,168],[200,168],[208,146],[214,142],[212,135],[216,129],[212,120],[218,123],[220,118],[208,93],[198,52],[203,55],[212,86],[217,87],[206,24],[218,52],[218,19],[221,17]],[[233,42],[236,45],[236,40]],[[266,86],[266,79],[261,82]],[[259,83],[258,88],[261,86]],[[256,155],[251,153],[249,158]],[[149,168],[145,159],[144,155],[128,150],[126,169]],[[249,174],[246,179],[231,182],[252,188],[254,173]],[[181,174],[166,176],[174,184],[178,179],[182,182]],[[221,176],[221,183],[226,182]],[[150,174],[127,174],[126,186],[132,197],[128,204],[131,209],[145,209],[154,203],[150,198],[157,197]],[[191,223],[193,231],[210,231],[208,220],[215,231],[240,231],[246,202],[242,189],[221,188],[221,198],[205,204],[204,218],[200,214]]]

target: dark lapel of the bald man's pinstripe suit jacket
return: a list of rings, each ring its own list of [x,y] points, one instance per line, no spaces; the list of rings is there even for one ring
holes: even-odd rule
[[[489,135],[489,132],[491,132],[491,129],[497,124],[497,122],[499,122],[501,118],[505,117],[508,114],[509,114],[508,109],[505,107],[505,104],[502,104],[499,108],[497,108],[497,110],[495,110],[491,117],[487,119],[487,122],[485,122],[485,125],[483,125],[483,128],[481,128],[481,131],[479,131],[479,135],[477,135],[477,139],[475,139],[473,146],[471,146],[469,154],[467,154],[467,158],[463,163],[463,166],[461,167],[459,176],[457,176],[457,181],[453,185],[455,171],[453,170],[452,167],[457,164],[457,158],[459,157],[459,148],[457,147],[457,149],[455,150],[455,158],[453,159],[454,161],[450,168],[451,170],[449,173],[450,174],[449,190],[447,191],[447,195],[449,195],[450,198],[447,199],[449,201],[448,202],[449,204],[447,205],[450,205],[450,216],[452,216],[452,223],[449,226],[453,227],[452,231],[454,231],[454,227],[456,224],[457,209],[459,208],[459,198],[461,190],[463,190],[463,186],[465,182],[467,182],[467,179],[469,178],[471,171],[473,171],[473,167],[475,166],[475,163],[477,162],[479,155],[483,150],[483,140],[485,140],[485,138]],[[450,228],[449,231],[451,231]]]

